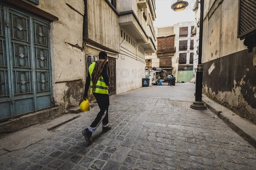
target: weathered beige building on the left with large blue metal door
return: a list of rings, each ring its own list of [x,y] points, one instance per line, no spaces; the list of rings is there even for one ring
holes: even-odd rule
[[[0,119],[79,105],[83,0],[2,0]]]

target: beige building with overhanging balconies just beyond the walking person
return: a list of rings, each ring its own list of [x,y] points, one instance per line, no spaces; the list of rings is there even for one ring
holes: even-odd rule
[[[108,52],[110,93],[141,87],[145,53],[156,50],[155,0],[88,0],[86,11],[86,54]]]

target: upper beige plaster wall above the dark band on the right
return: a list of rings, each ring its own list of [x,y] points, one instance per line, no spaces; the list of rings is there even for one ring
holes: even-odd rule
[[[212,2],[208,4],[214,4]],[[205,4],[202,63],[246,49],[244,41],[237,38],[238,6],[238,0],[224,0],[219,6]],[[212,16],[207,15],[207,11]]]

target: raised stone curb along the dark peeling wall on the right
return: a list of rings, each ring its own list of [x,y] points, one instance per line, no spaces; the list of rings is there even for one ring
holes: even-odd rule
[[[256,148],[256,125],[203,94],[202,102],[218,115],[229,127]]]

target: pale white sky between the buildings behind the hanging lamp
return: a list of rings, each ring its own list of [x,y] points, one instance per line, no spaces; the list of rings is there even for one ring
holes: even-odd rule
[[[156,0],[156,14],[157,18],[154,21],[155,27],[173,26],[176,23],[194,21],[195,12],[192,8],[195,4],[195,0],[186,0],[189,6],[183,11],[175,12],[171,6],[177,0]]]

